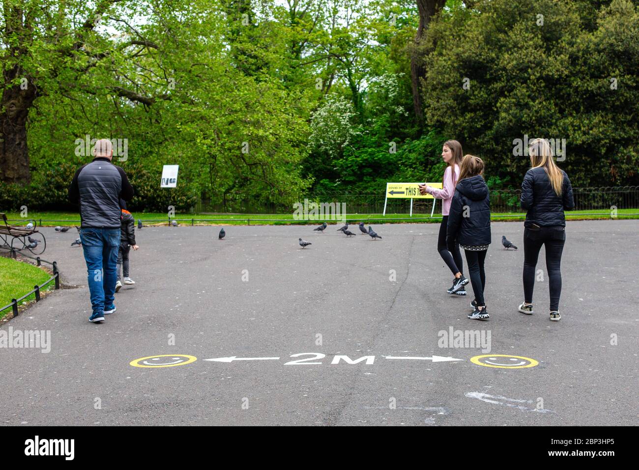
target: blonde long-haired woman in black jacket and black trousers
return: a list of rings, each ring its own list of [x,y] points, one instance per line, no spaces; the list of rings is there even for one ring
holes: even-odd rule
[[[550,320],[561,320],[561,256],[566,243],[564,210],[574,208],[573,187],[568,175],[553,160],[550,143],[534,139],[528,148],[530,168],[521,184],[521,207],[527,209],[523,231],[523,292],[519,311],[532,315],[535,269],[542,245],[546,246],[546,269],[550,284]]]

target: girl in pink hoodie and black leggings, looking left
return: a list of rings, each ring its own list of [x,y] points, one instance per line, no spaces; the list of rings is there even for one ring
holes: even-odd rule
[[[437,251],[442,256],[443,262],[449,267],[455,278],[452,280],[452,287],[447,290],[449,294],[466,295],[464,286],[468,284],[468,279],[461,274],[463,262],[459,244],[456,240],[446,241],[446,231],[448,226],[448,214],[450,201],[455,193],[455,185],[459,180],[459,165],[461,164],[461,144],[456,140],[447,140],[443,143],[442,159],[448,166],[443,173],[442,189],[436,189],[426,184],[419,185],[421,194],[431,194],[436,199],[442,200],[442,224],[440,225],[439,237],[437,239]]]

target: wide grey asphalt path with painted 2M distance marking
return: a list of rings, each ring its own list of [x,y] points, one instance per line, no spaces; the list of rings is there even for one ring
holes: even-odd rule
[[[567,223],[560,322],[544,249],[535,313],[517,311],[523,223],[492,224],[486,321],[466,318],[470,285],[445,292],[438,224],[376,224],[382,240],[337,227],[136,230],[136,284],[104,324],[88,322],[75,229],[42,228],[68,288],[1,327],[49,331],[50,352],[0,347],[0,424],[636,425],[637,221]],[[442,343],[456,332],[490,334],[489,350]],[[470,361],[486,353],[498,366]],[[130,364],[143,357],[169,366]]]

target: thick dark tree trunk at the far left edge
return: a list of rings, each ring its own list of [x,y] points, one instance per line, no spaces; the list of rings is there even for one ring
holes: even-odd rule
[[[29,183],[29,150],[27,148],[27,116],[36,98],[36,88],[27,77],[20,77],[20,68],[4,70],[4,83],[26,79],[24,84],[12,84],[3,90],[0,112],[0,181]],[[23,89],[24,88],[24,89]]]

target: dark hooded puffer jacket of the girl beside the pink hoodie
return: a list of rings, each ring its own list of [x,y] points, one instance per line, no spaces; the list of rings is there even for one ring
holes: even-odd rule
[[[481,175],[459,180],[450,202],[447,237],[465,246],[490,244],[490,196]]]

